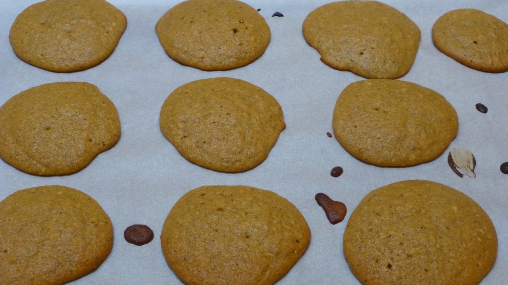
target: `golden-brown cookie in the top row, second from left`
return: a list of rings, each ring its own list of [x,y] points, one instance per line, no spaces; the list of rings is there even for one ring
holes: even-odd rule
[[[188,0],[155,25],[166,54],[202,70],[228,70],[263,55],[270,27],[258,11],[236,0]]]

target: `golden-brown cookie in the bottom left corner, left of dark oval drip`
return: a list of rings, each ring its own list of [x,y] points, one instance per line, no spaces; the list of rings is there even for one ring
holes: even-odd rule
[[[15,192],[0,202],[0,284],[63,284],[97,269],[113,245],[107,213],[66,186]]]

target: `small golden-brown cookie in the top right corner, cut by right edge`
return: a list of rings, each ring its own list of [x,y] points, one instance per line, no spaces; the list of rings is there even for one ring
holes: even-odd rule
[[[467,67],[489,73],[508,71],[508,24],[476,9],[459,9],[432,26],[435,47]]]

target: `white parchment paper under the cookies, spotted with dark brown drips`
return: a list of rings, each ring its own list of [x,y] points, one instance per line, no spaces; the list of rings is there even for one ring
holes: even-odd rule
[[[203,72],[181,66],[163,51],[155,23],[179,0],[110,0],[128,19],[115,52],[102,64],[83,72],[57,74],[19,60],[9,43],[15,17],[38,0],[0,2],[0,105],[30,87],[55,81],[87,81],[97,85],[116,105],[121,138],[82,171],[66,176],[39,177],[0,161],[0,200],[15,191],[41,185],[65,185],[96,199],[114,227],[111,255],[93,273],[73,284],[179,284],[161,252],[163,222],[175,201],[202,185],[250,185],[271,190],[293,202],[312,233],[303,258],[278,284],[360,284],[342,254],[342,234],[349,214],[369,191],[407,179],[427,179],[454,187],[477,201],[497,230],[497,262],[482,285],[506,283],[508,268],[508,175],[499,165],[508,161],[508,73],[488,74],[467,68],[438,52],[431,27],[442,14],[476,8],[508,22],[508,2],[497,0],[382,0],[417,23],[422,39],[416,61],[401,80],[418,83],[446,97],[460,120],[452,148],[465,148],[477,160],[472,179],[449,167],[448,152],[436,160],[408,168],[380,168],[347,154],[332,132],[332,113],[340,91],[363,78],[334,70],[306,44],[301,26],[313,9],[327,0],[245,0],[265,17],[272,31],[266,53],[256,62],[227,72]],[[280,12],[284,17],[272,17]],[[204,169],[183,159],[158,127],[160,108],[169,93],[189,81],[233,77],[256,84],[282,106],[287,128],[268,159],[244,173]],[[476,103],[488,108],[475,110]],[[330,175],[335,166],[344,173]],[[348,207],[346,219],[331,225],[314,201],[326,193]],[[146,224],[154,240],[138,247],[123,240],[123,230]],[[2,229],[0,229],[2,230]]]

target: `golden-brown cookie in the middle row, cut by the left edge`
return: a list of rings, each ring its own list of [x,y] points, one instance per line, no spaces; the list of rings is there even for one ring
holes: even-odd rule
[[[0,108],[0,158],[29,174],[77,172],[119,137],[115,106],[86,82],[32,87]]]

